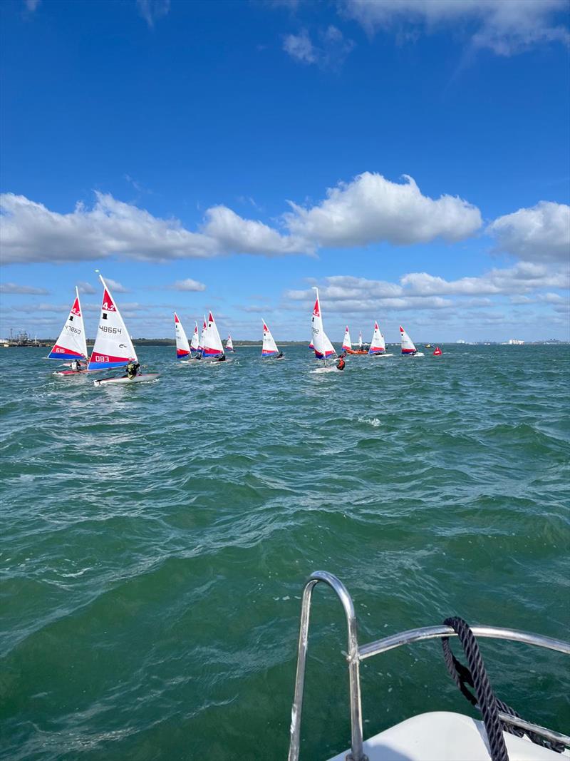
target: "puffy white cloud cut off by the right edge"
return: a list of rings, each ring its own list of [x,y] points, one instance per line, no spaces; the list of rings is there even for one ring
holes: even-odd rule
[[[499,217],[487,228],[497,247],[519,259],[570,260],[570,206],[540,201],[531,209]]]

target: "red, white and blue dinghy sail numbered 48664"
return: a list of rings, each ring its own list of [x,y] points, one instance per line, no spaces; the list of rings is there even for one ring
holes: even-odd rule
[[[103,284],[103,304],[101,304],[99,328],[87,366],[88,370],[120,368],[122,365],[127,365],[131,359],[138,361],[119,307],[113,301],[111,291],[101,275],[99,279]]]

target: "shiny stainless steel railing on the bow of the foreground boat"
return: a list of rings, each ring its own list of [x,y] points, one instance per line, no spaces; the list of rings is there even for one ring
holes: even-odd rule
[[[326,571],[315,571],[312,573],[309,581],[305,585],[302,594],[301,603],[301,624],[299,627],[299,648],[297,651],[297,671],[295,679],[295,696],[293,698],[293,708],[291,709],[291,728],[290,728],[290,745],[288,761],[298,761],[299,746],[301,737],[301,715],[302,699],[305,688],[305,667],[307,660],[307,648],[309,646],[309,615],[311,612],[312,593],[319,581],[328,584],[337,594],[340,603],[344,609],[344,615],[347,619],[348,635],[348,677],[350,685],[350,754],[347,761],[367,761],[363,750],[363,717],[362,705],[360,699],[360,661],[365,658],[371,658],[372,655],[385,653],[393,648],[399,648],[401,645],[410,645],[412,642],[422,642],[426,639],[436,639],[442,637],[457,636],[451,626],[425,626],[422,629],[410,629],[407,632],[394,634],[375,642],[369,642],[367,645],[358,645],[358,635],[356,629],[356,613],[352,598],[336,576]],[[542,637],[537,634],[519,632],[517,629],[502,629],[498,626],[472,626],[471,630],[476,637],[491,637],[496,639],[508,639],[515,642],[524,642],[527,645],[537,645],[540,648],[556,650],[566,655],[570,655],[570,644],[562,642],[559,639]],[[520,727],[521,729],[536,732],[542,737],[554,742],[563,743],[570,746],[570,737],[560,734],[553,730],[540,727],[538,724],[531,724],[524,719],[516,718],[499,712],[502,721]]]

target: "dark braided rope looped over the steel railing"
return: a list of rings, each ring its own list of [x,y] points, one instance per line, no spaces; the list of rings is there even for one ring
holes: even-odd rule
[[[464,619],[453,616],[445,619],[445,626],[451,626],[451,629],[458,635],[459,641],[467,656],[468,668],[464,666],[454,654],[451,652],[451,646],[449,645],[449,638],[442,638],[443,657],[445,658],[445,665],[451,679],[457,684],[461,693],[467,698],[471,705],[476,705],[483,716],[483,722],[487,733],[487,740],[489,742],[489,751],[491,753],[492,761],[508,761],[507,747],[505,744],[505,737],[503,731],[515,734],[518,737],[522,737],[524,734],[529,737],[537,745],[542,745],[550,750],[556,750],[557,753],[562,753],[564,750],[563,745],[558,743],[544,740],[540,735],[534,732],[523,731],[521,729],[513,727],[511,724],[506,724],[499,718],[499,711],[508,714],[509,716],[516,716],[521,718],[520,715],[495,696],[492,691],[489,677],[485,670],[485,664],[477,645],[477,639],[474,637],[467,622]],[[475,690],[475,694],[471,692],[469,687]]]

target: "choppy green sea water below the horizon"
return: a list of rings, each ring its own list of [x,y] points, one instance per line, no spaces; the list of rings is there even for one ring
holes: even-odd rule
[[[179,366],[97,389],[0,350],[0,756],[287,754],[302,585],[361,642],[457,614],[568,638],[568,346]],[[568,730],[562,655],[483,642],[497,693]],[[340,605],[315,592],[302,758],[350,744]],[[437,642],[363,664],[365,734],[474,715]]]

